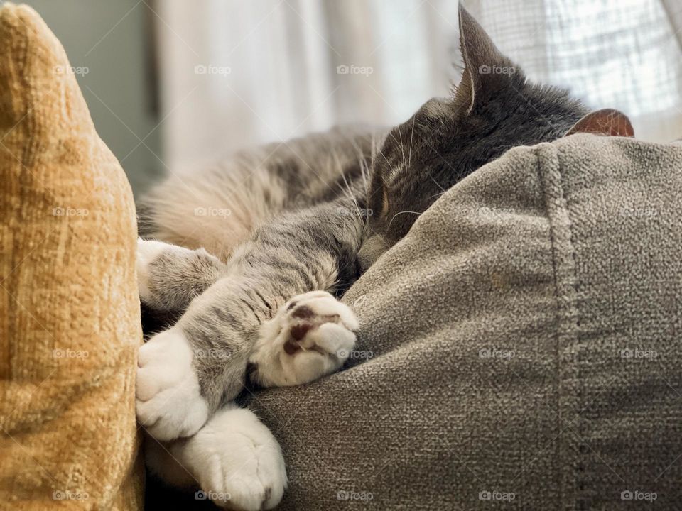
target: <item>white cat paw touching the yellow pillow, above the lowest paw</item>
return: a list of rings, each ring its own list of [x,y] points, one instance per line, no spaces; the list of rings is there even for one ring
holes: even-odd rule
[[[193,353],[177,329],[156,334],[138,353],[137,420],[159,440],[195,434],[208,418]]]

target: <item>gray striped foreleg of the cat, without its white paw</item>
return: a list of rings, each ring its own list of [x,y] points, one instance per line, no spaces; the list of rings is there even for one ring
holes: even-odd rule
[[[356,278],[354,255],[363,222],[338,215],[333,204],[347,201],[283,214],[256,229],[229,260],[224,276],[178,322],[195,351],[213,354],[195,358],[202,395],[212,410],[242,391],[259,326],[277,309],[303,292],[337,292]]]

